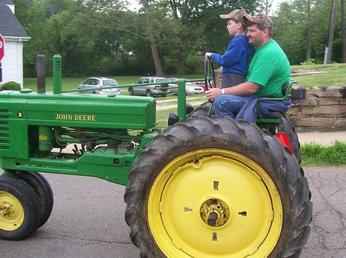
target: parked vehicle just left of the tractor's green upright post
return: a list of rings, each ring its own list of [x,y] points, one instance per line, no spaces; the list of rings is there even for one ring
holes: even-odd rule
[[[151,84],[129,87],[129,95],[136,96],[167,96],[168,94],[168,79],[163,77],[141,77],[138,84]]]

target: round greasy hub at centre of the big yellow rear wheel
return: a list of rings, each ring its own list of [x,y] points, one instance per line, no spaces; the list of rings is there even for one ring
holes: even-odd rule
[[[228,205],[216,198],[205,201],[201,205],[200,214],[205,224],[215,228],[224,226],[230,218]]]

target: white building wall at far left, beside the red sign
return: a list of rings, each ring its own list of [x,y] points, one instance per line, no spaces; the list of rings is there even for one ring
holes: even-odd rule
[[[2,82],[15,81],[23,86],[23,42],[6,40],[2,59]]]

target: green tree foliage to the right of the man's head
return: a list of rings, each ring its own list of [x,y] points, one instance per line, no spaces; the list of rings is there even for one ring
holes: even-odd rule
[[[310,2],[310,22],[308,7]],[[280,5],[274,18],[274,37],[287,52],[291,63],[306,61],[308,30],[311,33],[311,58],[318,63],[324,59],[325,47],[328,44],[329,16],[332,1],[293,0]],[[337,1],[337,22],[333,41],[333,62],[342,61],[341,1]]]

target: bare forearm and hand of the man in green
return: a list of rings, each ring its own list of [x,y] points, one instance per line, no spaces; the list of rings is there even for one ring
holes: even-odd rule
[[[259,89],[257,84],[252,82],[244,82],[237,86],[229,87],[229,88],[213,88],[208,90],[207,97],[208,99],[214,99],[217,96],[222,94],[222,90],[224,90],[224,95],[236,95],[236,96],[250,96],[255,94]]]

